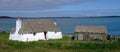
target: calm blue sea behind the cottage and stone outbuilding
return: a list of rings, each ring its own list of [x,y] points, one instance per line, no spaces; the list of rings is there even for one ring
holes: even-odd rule
[[[120,35],[120,18],[50,18],[56,21],[63,33],[74,33],[77,25],[104,25],[108,34]],[[24,19],[23,19],[24,20]],[[16,19],[0,19],[0,30],[10,31]]]

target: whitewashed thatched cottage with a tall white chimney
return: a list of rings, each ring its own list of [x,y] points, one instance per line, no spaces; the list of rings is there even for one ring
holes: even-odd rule
[[[16,21],[16,28],[10,33],[9,40],[38,41],[61,39],[62,32],[55,22],[48,19],[26,19]]]

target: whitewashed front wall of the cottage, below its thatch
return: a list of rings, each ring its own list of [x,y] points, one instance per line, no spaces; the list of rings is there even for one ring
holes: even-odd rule
[[[47,32],[46,34],[47,40],[49,39],[61,39],[62,33],[61,32]],[[44,32],[33,34],[10,34],[9,40],[17,40],[17,41],[38,41],[38,40],[45,40]]]

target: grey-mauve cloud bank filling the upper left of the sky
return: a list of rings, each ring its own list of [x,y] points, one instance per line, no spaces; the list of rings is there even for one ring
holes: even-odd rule
[[[91,0],[0,0],[2,10],[45,10]]]

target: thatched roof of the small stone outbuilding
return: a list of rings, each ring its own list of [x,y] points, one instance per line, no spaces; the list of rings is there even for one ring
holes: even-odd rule
[[[76,26],[75,32],[107,33],[105,26]]]

